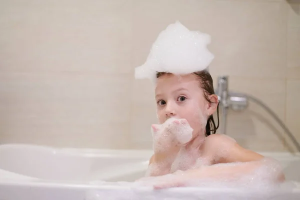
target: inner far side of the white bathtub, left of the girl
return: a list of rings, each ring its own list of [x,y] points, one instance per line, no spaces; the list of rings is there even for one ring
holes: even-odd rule
[[[0,145],[0,175],[9,173],[17,177],[20,174],[23,178],[58,181],[129,181],[132,175],[144,174],[150,153],[5,144]]]

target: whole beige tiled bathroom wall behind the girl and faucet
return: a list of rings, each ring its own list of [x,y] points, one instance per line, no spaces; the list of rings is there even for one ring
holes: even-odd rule
[[[285,0],[3,0],[0,143],[151,148],[153,85],[135,80],[157,34],[179,20],[209,33],[211,74],[267,103],[300,140],[300,4]],[[259,106],[228,115],[254,150],[290,141]]]

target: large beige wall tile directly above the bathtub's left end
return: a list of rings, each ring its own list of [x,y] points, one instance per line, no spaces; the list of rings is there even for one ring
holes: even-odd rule
[[[115,139],[122,135],[126,139],[120,141],[127,145],[128,90],[126,74],[0,73],[1,132],[9,135],[8,139],[15,138],[14,134],[42,134],[38,137],[41,141],[53,135],[103,134],[99,143],[104,139],[114,147],[119,143]],[[59,137],[51,141],[59,141]]]

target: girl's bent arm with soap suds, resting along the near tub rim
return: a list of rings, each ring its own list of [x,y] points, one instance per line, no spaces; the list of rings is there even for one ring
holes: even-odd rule
[[[163,181],[154,184],[154,188],[184,186],[191,181],[207,179],[238,180],[246,176],[254,179],[259,178],[259,180],[263,178],[272,182],[284,180],[284,175],[276,160],[244,149],[226,135],[208,136],[204,149],[205,152],[209,152],[210,156],[216,157],[215,164],[172,174],[172,176],[165,177]],[[257,173],[256,170],[262,171]]]

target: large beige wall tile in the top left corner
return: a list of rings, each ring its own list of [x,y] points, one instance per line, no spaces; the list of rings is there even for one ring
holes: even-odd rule
[[[1,3],[0,71],[129,72],[131,6],[130,0]]]

